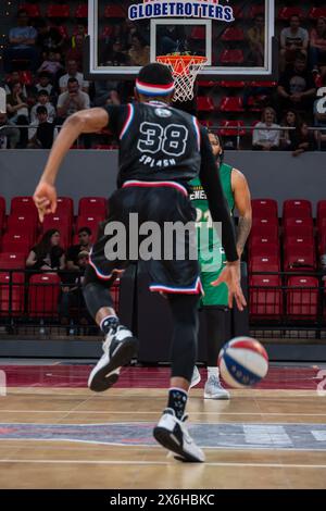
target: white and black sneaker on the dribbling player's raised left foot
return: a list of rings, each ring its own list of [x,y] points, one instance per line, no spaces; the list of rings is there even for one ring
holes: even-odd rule
[[[88,387],[95,392],[102,392],[117,382],[121,367],[137,353],[138,340],[128,328],[118,325],[106,334],[102,349],[103,354],[88,378]]]

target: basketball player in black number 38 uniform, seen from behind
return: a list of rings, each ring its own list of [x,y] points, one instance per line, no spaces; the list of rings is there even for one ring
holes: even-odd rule
[[[125,226],[128,239],[131,213],[139,223],[155,222],[164,229],[166,222],[193,222],[195,210],[188,199],[189,182],[200,175],[214,222],[223,223],[226,267],[214,285],[226,283],[229,303],[234,298],[240,310],[246,300],[240,287],[239,260],[234,228],[215,169],[209,137],[197,119],[170,107],[174,82],[170,70],[161,64],[143,67],[136,82],[138,103],[85,110],[64,123],[53,144],[34,200],[40,221],[54,213],[54,183],[63,157],[83,133],[109,127],[120,138],[118,189],[110,198],[110,215],[102,226],[90,254],[84,295],[88,309],[104,335],[103,356],[89,376],[91,390],[110,388],[121,367],[137,353],[137,339],[120,324],[113,309],[110,285],[116,273],[130,262],[128,250],[120,259],[109,249],[113,240],[112,222]],[[115,232],[114,232],[115,234]],[[164,292],[174,320],[172,377],[167,408],[158,426],[155,439],[181,461],[204,461],[204,453],[195,444],[185,426],[185,408],[196,362],[198,302],[201,296],[200,269],[190,258],[190,238],[185,238],[185,258],[146,261],[151,276],[151,290]],[[118,241],[120,242],[120,241]],[[129,247],[127,247],[128,249]],[[138,247],[139,250],[139,247]],[[142,259],[137,254],[136,259]],[[153,342],[155,332],[153,332]]]

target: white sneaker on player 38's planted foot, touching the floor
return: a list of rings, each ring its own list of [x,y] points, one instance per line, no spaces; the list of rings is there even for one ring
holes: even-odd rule
[[[185,425],[187,415],[184,415],[179,421],[175,416],[174,410],[167,408],[154,427],[154,438],[165,449],[177,454],[175,456],[176,460],[202,463],[205,461],[205,456],[189,435]]]

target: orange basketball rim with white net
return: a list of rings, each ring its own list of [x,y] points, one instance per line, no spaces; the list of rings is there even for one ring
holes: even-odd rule
[[[156,57],[156,61],[172,71],[175,92],[173,101],[190,101],[193,98],[193,84],[198,73],[203,68],[205,57],[174,53]]]

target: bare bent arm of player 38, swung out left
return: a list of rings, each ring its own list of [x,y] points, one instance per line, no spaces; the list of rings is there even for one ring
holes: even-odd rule
[[[57,191],[54,183],[57,175],[70,148],[83,133],[96,133],[108,126],[109,114],[101,108],[80,110],[71,115],[55,138],[49,154],[46,169],[34,194],[34,202],[42,222],[46,214],[55,213]]]

